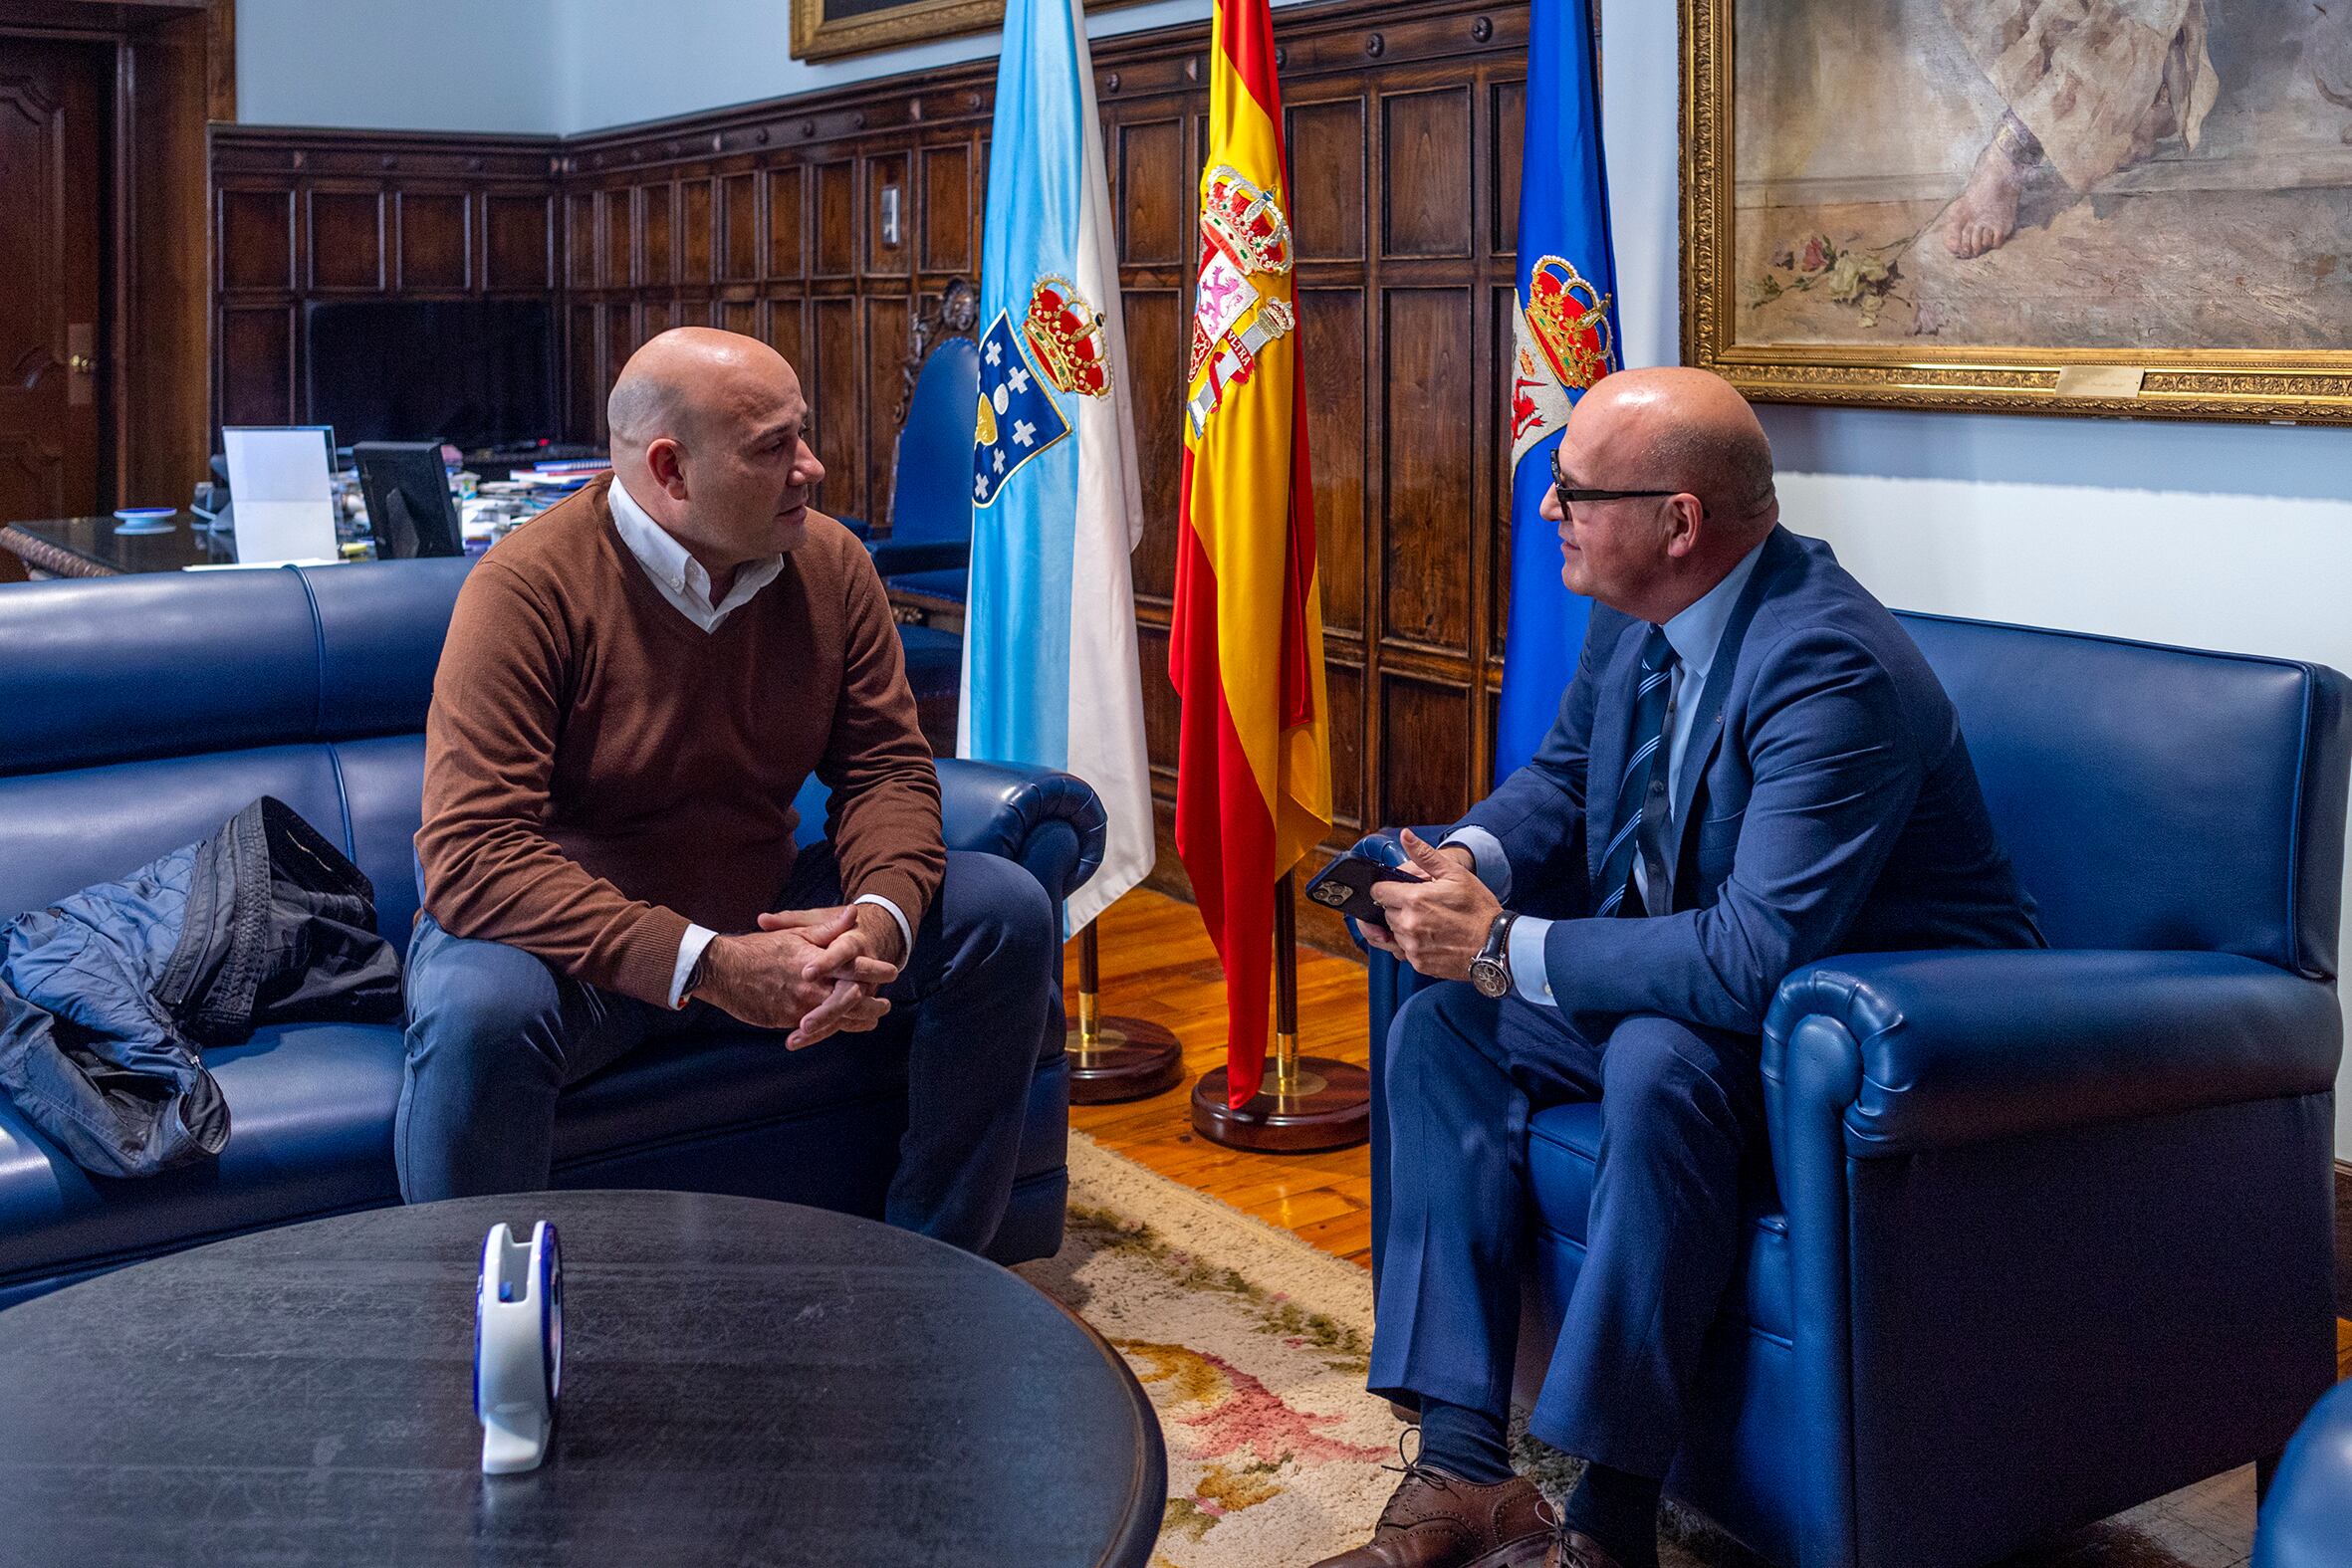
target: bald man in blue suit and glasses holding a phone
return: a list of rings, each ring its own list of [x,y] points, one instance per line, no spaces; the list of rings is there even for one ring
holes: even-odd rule
[[[1893,616],[1780,527],[1755,411],[1621,371],[1559,444],[1562,578],[1595,599],[1534,762],[1374,889],[1423,976],[1388,1037],[1371,1387],[1421,1453],[1327,1568],[1651,1568],[1658,1488],[1764,1159],[1759,1034],[1835,952],[2032,947],[1950,698]],[[1585,1460],[1564,1516],[1510,1474],[1526,1119],[1599,1100],[1585,1265],[1529,1429]]]

